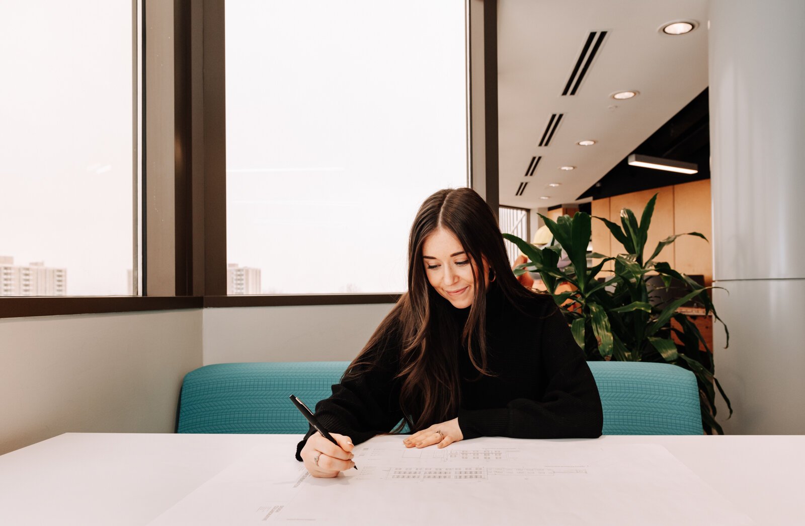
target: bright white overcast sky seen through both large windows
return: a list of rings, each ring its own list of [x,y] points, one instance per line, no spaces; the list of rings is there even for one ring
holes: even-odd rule
[[[3,2],[0,255],[126,294],[131,4]],[[263,292],[405,288],[408,229],[466,184],[464,0],[226,2],[228,260]],[[13,81],[7,81],[13,79]]]

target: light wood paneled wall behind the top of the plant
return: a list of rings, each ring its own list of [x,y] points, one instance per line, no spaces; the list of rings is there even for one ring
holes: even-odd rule
[[[708,240],[712,236],[710,180],[675,184],[653,190],[626,193],[592,201],[592,215],[605,217],[620,224],[621,209],[631,209],[638,217],[651,196],[657,195],[654,217],[651,219],[646,257],[654,252],[657,243],[673,234],[699,232]],[[605,255],[617,255],[624,251],[603,222],[592,220],[592,250]],[[712,248],[702,238],[683,236],[666,246],[657,257],[685,274],[704,275],[705,285],[712,284]],[[609,267],[611,270],[611,266]]]

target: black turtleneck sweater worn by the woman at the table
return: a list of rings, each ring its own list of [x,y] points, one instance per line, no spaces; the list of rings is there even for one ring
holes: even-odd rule
[[[453,311],[466,319],[466,312]],[[400,380],[394,379],[401,338],[397,331],[388,332],[369,350],[378,353],[379,366],[332,386],[332,396],[316,404],[321,425],[349,436],[356,445],[388,433],[403,418]],[[487,293],[486,342],[487,365],[496,375],[477,381],[472,381],[478,372],[466,348],[459,347],[461,404],[456,416],[464,440],[601,436],[598,388],[551,296],[535,296],[515,306],[493,285]],[[299,451],[312,433],[308,431],[296,448],[300,461]]]

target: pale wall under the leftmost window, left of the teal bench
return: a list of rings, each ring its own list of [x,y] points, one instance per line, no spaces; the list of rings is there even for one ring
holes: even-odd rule
[[[201,311],[0,320],[0,454],[67,432],[171,433]]]

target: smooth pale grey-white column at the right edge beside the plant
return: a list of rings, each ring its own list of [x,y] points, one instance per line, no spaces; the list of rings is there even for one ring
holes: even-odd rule
[[[712,0],[716,377],[725,433],[805,433],[805,2]]]

